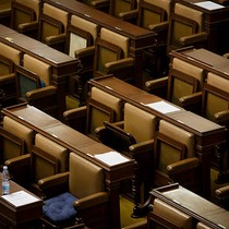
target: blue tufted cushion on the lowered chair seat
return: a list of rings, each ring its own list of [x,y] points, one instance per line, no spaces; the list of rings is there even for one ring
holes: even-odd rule
[[[71,220],[76,216],[76,210],[73,207],[74,201],[76,197],[69,192],[47,200],[43,206],[44,216],[55,222]]]

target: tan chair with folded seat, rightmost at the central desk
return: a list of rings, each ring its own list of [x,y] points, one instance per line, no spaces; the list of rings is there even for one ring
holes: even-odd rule
[[[165,120],[159,122],[159,131],[154,143],[154,185],[172,182],[167,167],[173,162],[194,156],[194,135]]]

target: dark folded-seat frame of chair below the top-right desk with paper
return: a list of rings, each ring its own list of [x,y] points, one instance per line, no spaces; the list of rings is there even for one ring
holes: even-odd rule
[[[172,40],[174,23],[181,23],[183,25],[190,26],[192,28],[192,34],[197,33],[198,29],[198,24],[194,20],[172,13],[169,22],[169,37],[168,37],[168,46],[170,47],[169,50],[181,47],[180,44],[176,44]]]

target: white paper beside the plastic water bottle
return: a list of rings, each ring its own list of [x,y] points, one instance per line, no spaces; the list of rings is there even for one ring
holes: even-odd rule
[[[11,193],[9,195],[2,195],[2,198],[8,201],[9,203],[13,204],[15,207],[23,206],[26,204],[38,202],[39,198],[35,197],[34,195],[31,195],[29,193],[25,191],[19,191]]]

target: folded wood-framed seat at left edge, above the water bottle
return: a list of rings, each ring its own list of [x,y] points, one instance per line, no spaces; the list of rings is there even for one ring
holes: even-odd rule
[[[23,138],[0,128],[0,165],[3,165],[5,160],[24,154],[25,142]]]

